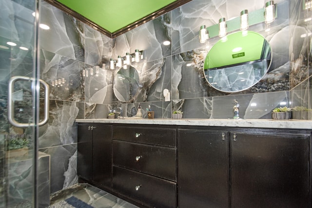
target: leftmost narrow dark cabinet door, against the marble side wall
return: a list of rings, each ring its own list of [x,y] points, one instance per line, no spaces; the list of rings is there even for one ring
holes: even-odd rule
[[[78,176],[92,180],[92,130],[90,125],[78,125],[78,154],[77,173]]]

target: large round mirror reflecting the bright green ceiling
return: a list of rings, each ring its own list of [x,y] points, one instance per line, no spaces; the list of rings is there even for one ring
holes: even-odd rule
[[[254,86],[271,63],[269,42],[258,33],[240,31],[218,40],[204,62],[204,73],[216,90],[233,93]]]

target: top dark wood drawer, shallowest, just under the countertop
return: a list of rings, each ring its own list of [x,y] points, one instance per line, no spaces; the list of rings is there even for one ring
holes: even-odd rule
[[[176,130],[114,126],[113,139],[151,145],[176,147]]]

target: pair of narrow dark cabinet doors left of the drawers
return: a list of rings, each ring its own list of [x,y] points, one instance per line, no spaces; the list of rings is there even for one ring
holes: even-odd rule
[[[78,124],[78,176],[101,188],[112,184],[112,126]]]

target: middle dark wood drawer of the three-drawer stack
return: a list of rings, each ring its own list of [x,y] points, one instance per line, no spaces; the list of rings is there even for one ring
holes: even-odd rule
[[[176,149],[124,141],[113,142],[115,165],[176,181]]]

